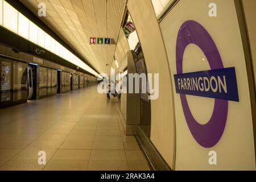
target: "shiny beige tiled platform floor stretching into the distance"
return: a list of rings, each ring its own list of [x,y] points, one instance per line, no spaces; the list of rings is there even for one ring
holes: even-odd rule
[[[0,110],[0,170],[149,170],[117,104],[92,86]]]

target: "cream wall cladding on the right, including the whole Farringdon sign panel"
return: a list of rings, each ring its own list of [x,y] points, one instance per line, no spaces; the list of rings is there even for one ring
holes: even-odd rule
[[[156,18],[151,1],[127,1],[148,73],[159,73],[150,140],[174,170],[255,170],[255,45],[243,35],[255,40],[255,1],[216,0],[216,16],[211,3],[170,1]]]

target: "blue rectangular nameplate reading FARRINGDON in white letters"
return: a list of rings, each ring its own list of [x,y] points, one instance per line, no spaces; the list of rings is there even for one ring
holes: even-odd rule
[[[176,93],[239,102],[235,68],[174,75]]]

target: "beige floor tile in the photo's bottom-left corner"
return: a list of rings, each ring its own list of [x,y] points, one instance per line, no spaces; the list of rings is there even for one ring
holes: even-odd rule
[[[39,165],[38,160],[9,160],[0,171],[42,171],[45,165]]]

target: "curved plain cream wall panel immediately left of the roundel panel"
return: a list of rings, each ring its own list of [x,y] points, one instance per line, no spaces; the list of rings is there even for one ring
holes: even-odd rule
[[[174,104],[168,60],[159,24],[151,1],[127,2],[135,24],[148,73],[159,73],[159,98],[151,100],[151,141],[174,169],[175,124]]]

